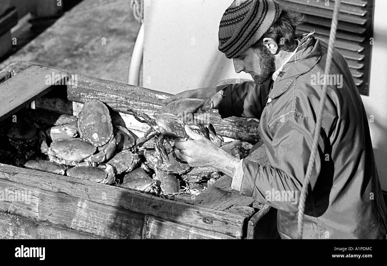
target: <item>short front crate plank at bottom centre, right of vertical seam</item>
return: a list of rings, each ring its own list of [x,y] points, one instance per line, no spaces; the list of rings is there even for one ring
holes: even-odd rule
[[[144,239],[235,239],[229,235],[146,215]],[[240,236],[241,237],[241,236]]]

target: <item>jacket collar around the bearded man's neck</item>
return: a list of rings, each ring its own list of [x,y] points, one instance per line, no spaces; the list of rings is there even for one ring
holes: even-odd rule
[[[296,59],[284,65],[284,69],[288,70],[286,72],[281,72],[281,77],[277,77],[269,98],[274,99],[281,96],[298,76],[305,74],[319,62],[323,54],[320,39],[313,36],[308,36],[307,38],[306,41],[301,41],[301,43],[302,45],[306,44],[308,47],[312,46],[312,50],[304,55],[305,49],[301,49],[301,51],[298,51],[295,55],[295,59],[301,55],[299,60]],[[309,43],[309,45],[307,43]]]

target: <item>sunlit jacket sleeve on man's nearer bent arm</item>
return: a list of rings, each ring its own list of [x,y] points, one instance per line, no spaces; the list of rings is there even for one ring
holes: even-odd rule
[[[271,166],[260,166],[244,159],[240,194],[276,209],[296,213],[311,154],[315,120],[290,113],[274,127],[274,162],[271,162]],[[319,151],[310,179],[312,189],[324,163],[324,142],[321,140],[320,136]]]

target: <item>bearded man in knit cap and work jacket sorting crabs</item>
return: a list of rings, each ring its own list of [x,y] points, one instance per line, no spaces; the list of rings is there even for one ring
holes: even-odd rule
[[[313,81],[324,75],[328,46],[313,33],[296,36],[299,23],[298,16],[274,0],[234,1],[219,25],[219,50],[232,58],[237,73],[251,74],[254,82],[190,90],[164,100],[209,99],[219,91],[224,98],[214,107],[222,118],[260,120],[270,166],[237,160],[188,127],[193,140],[176,142],[176,155],[190,166],[214,166],[233,178],[231,187],[241,195],[276,208],[283,239],[297,236],[299,201],[268,200],[266,195],[279,191],[300,197],[324,84]],[[386,206],[366,112],[348,64],[336,49],[328,73],[340,84],[328,84],[303,238],[385,238]]]

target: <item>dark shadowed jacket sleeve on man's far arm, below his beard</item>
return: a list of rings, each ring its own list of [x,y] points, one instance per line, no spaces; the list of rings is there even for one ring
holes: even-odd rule
[[[260,119],[266,105],[272,80],[256,85],[254,81],[217,86],[217,91],[226,87],[223,100],[218,106],[219,114],[226,117],[246,117]]]

